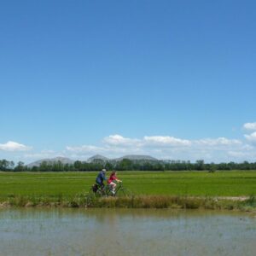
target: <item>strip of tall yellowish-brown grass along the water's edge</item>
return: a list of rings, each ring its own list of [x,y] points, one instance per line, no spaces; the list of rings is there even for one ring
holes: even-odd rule
[[[186,197],[168,195],[135,195],[131,197],[93,197],[76,195],[70,198],[9,197],[2,207],[96,207],[96,208],[172,208],[172,209],[206,209],[206,210],[240,210],[255,212],[256,198],[245,201],[216,199],[214,197]]]

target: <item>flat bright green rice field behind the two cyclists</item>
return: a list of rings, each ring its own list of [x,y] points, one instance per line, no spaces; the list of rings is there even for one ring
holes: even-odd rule
[[[0,201],[16,196],[68,198],[85,194],[96,175],[97,172],[0,172]],[[256,195],[256,171],[119,172],[118,177],[134,195]]]

